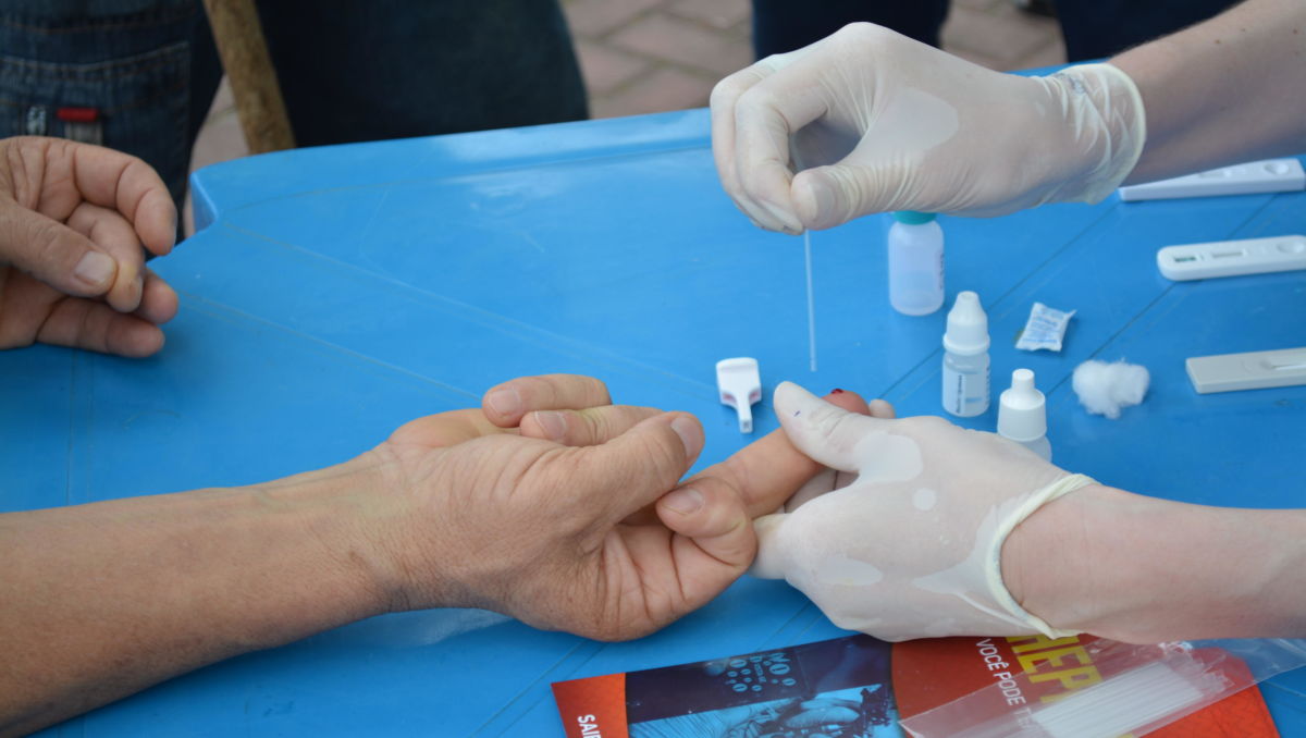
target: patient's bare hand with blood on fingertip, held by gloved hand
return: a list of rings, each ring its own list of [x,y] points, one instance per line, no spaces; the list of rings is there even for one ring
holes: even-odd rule
[[[853,393],[838,401],[866,405]],[[590,377],[524,377],[482,410],[407,423],[366,455],[387,490],[359,550],[389,610],[475,606],[539,628],[636,637],[707,603],[756,554],[752,519],[819,465],[784,432],[686,482],[703,448],[687,413],[609,405]]]

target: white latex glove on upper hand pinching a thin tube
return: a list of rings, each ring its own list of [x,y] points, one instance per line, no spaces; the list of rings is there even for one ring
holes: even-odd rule
[[[712,91],[722,185],[755,223],[791,234],[885,210],[1097,202],[1134,168],[1144,135],[1141,98],[1115,67],[1017,77],[870,24]]]

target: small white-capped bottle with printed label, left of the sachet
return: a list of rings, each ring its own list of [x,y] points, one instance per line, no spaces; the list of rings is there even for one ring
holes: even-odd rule
[[[943,334],[943,409],[960,418],[989,410],[989,316],[969,290],[957,294]]]

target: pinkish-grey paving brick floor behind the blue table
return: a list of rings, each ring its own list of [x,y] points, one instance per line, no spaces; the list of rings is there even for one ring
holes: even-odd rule
[[[563,9],[594,118],[705,106],[717,80],[752,63],[750,0],[563,0]],[[953,0],[943,47],[993,69],[1066,60],[1057,22],[1011,0]],[[223,84],[192,168],[247,153]]]

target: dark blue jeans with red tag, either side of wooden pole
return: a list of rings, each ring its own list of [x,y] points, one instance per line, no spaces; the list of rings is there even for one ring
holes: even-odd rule
[[[586,116],[558,0],[263,0],[259,13],[302,146]],[[221,76],[201,0],[0,0],[0,136],[135,154],[178,202]]]

